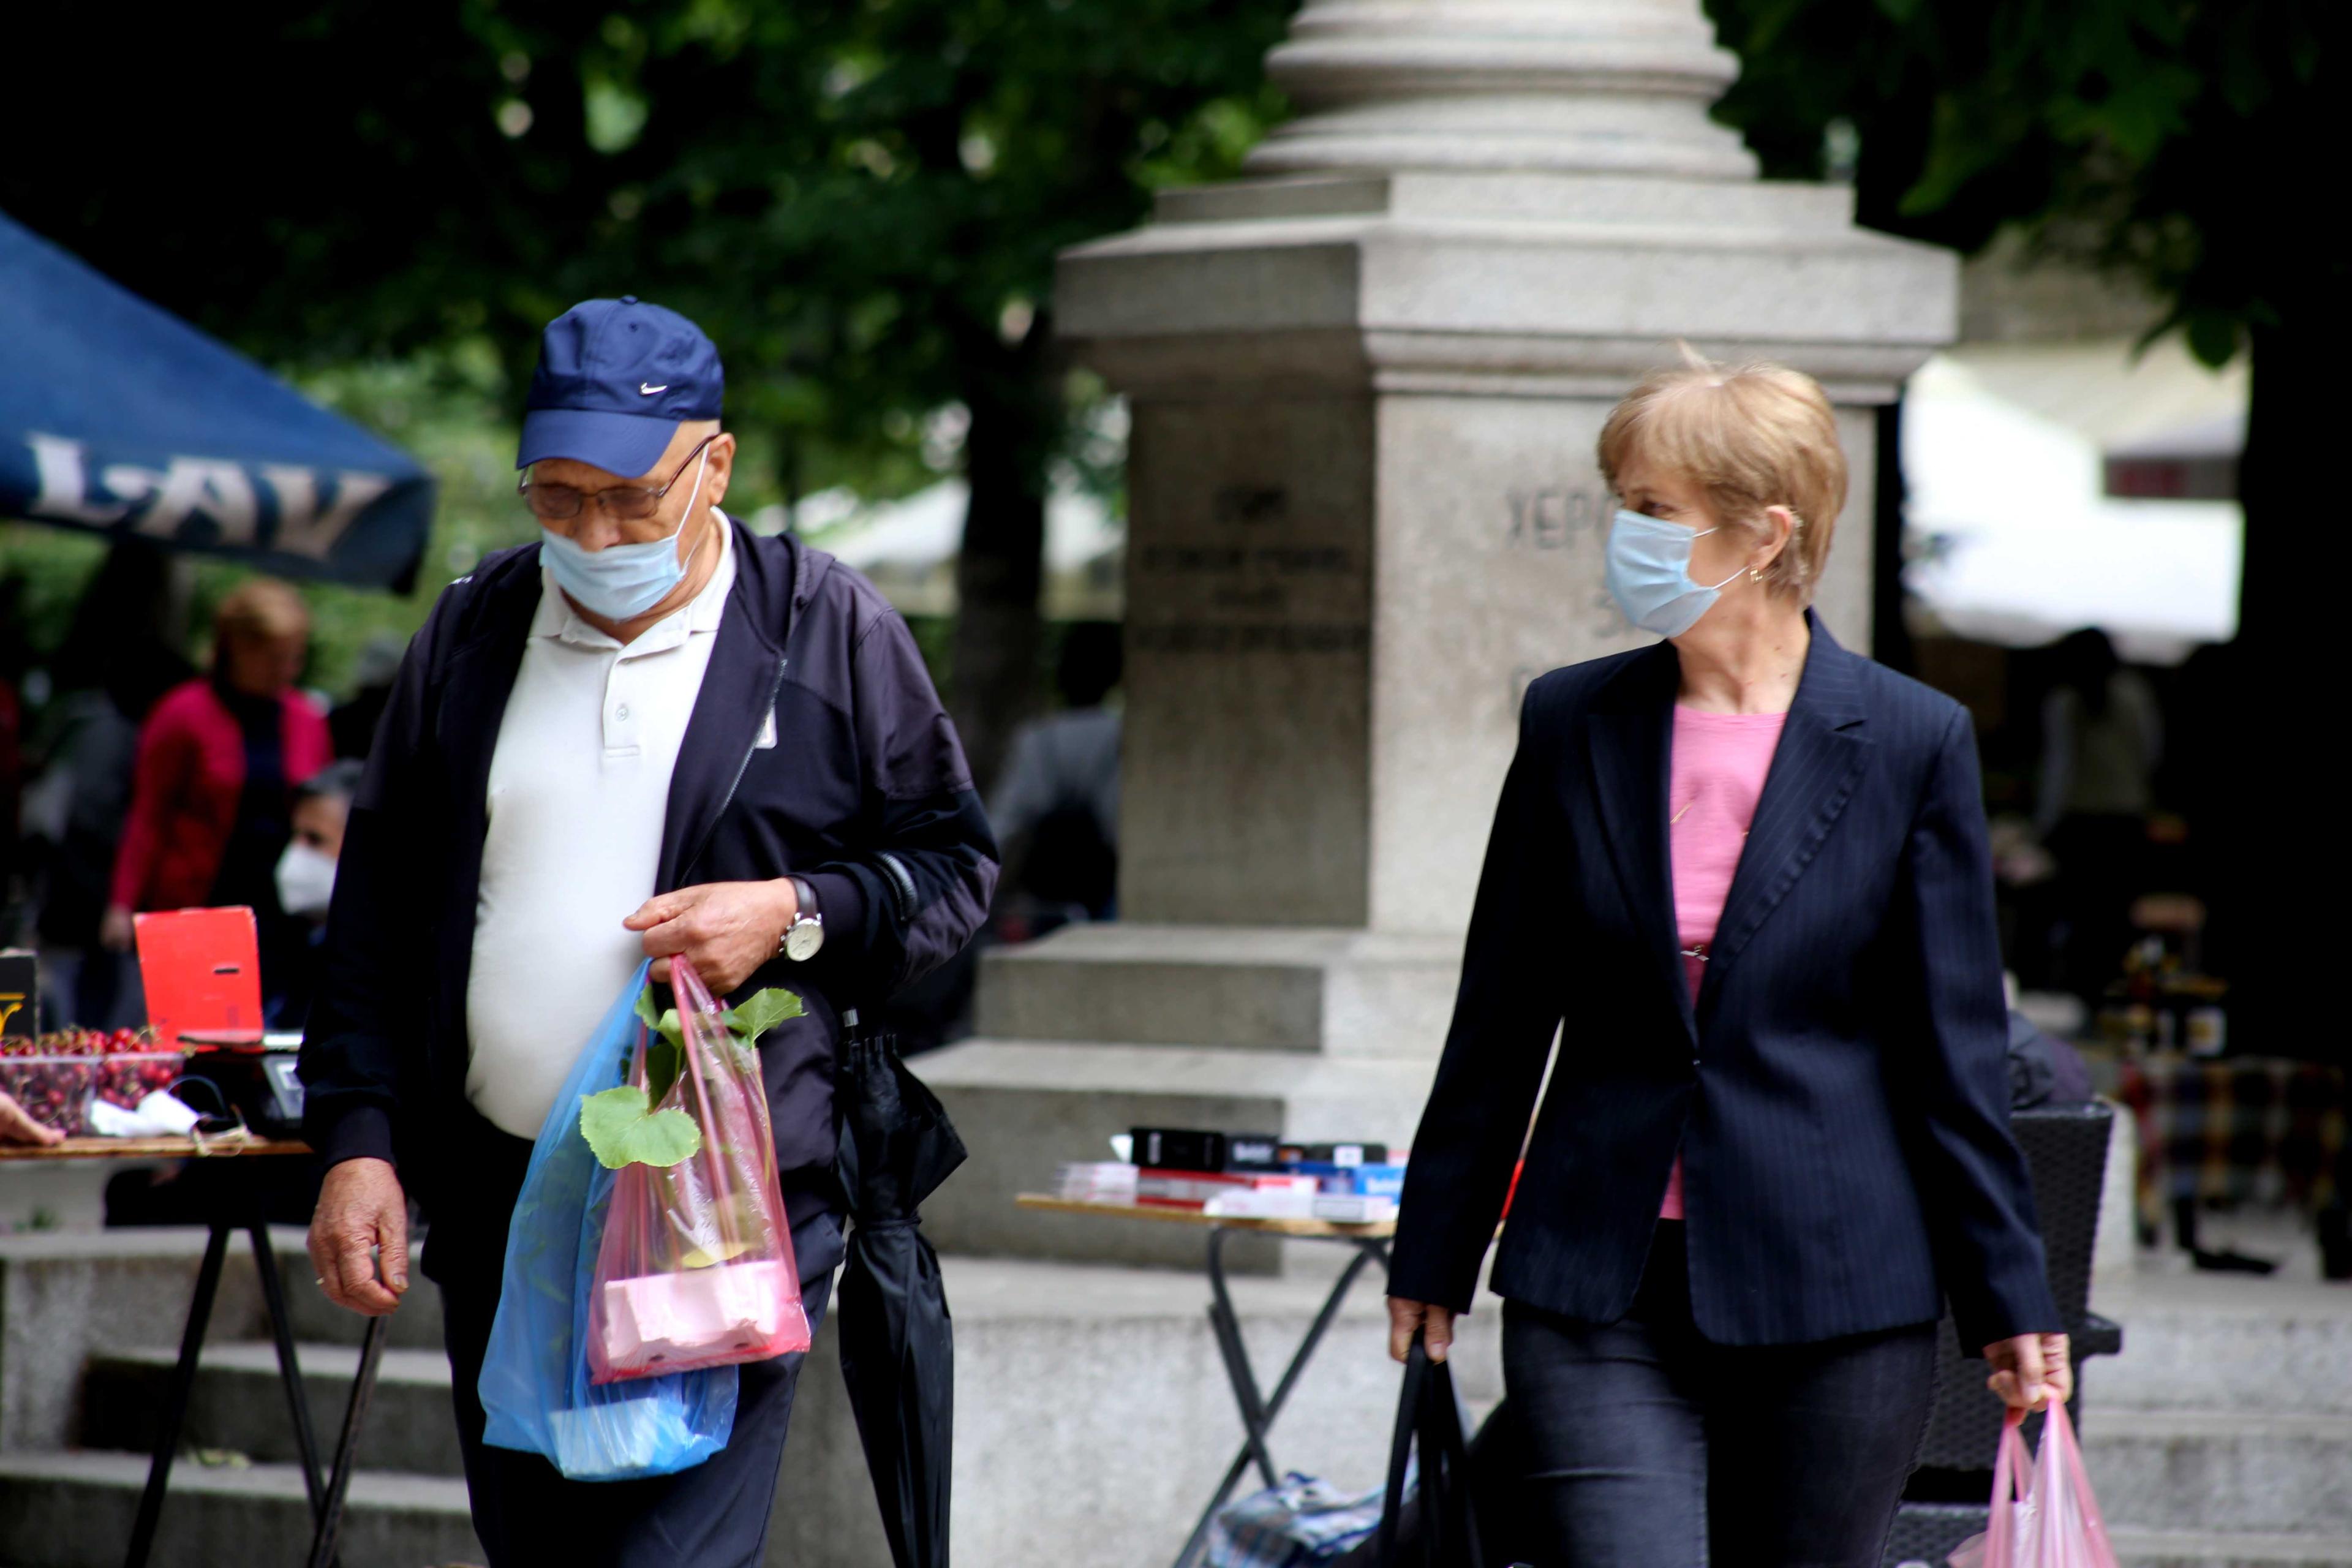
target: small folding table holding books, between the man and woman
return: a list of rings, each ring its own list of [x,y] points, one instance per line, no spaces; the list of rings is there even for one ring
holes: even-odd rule
[[[1367,1262],[1378,1262],[1383,1269],[1388,1267],[1388,1239],[1397,1234],[1397,1222],[1371,1220],[1367,1225],[1343,1225],[1338,1220],[1258,1220],[1240,1215],[1209,1215],[1200,1208],[1058,1199],[1037,1192],[1023,1192],[1014,1199],[1014,1204],[1047,1213],[1110,1215],[1145,1225],[1192,1225],[1209,1232],[1209,1328],[1216,1335],[1218,1356],[1225,1361],[1225,1378],[1232,1382],[1232,1403],[1242,1413],[1242,1450],[1232,1455],[1232,1465],[1225,1467],[1225,1479],[1218,1483],[1216,1495],[1209,1497],[1209,1507],[1202,1509],[1200,1523],[1192,1526],[1192,1535],[1185,1537],[1183,1552],[1176,1554],[1176,1568],[1188,1568],[1207,1544],[1209,1526],[1216,1521],[1218,1509],[1225,1507],[1232,1488],[1242,1481],[1242,1472],[1256,1465],[1265,1486],[1282,1483],[1282,1472],[1275,1469],[1275,1460],[1265,1448],[1265,1432],[1275,1425],[1275,1415],[1282,1413],[1282,1403],[1291,1396],[1291,1387],[1298,1385],[1298,1375],[1305,1373],[1308,1361],[1315,1356],[1315,1347],[1322,1345],[1324,1331],[1331,1326],[1331,1319],[1338,1316],[1341,1302],[1348,1300],[1348,1291],[1355,1286],[1357,1274],[1364,1272]],[[1282,1237],[1289,1241],[1334,1241],[1338,1246],[1355,1248],[1355,1258],[1350,1258],[1348,1267],[1341,1269],[1338,1284],[1334,1284],[1331,1293],[1324,1298],[1322,1309],[1308,1326],[1308,1335],[1291,1354],[1291,1363],[1282,1368],[1282,1378],[1275,1382],[1272,1394],[1261,1392],[1258,1375],[1249,1363],[1249,1347],[1242,1345],[1242,1319],[1235,1314],[1232,1291],[1225,1286],[1225,1237],[1235,1232]]]

